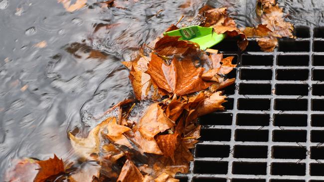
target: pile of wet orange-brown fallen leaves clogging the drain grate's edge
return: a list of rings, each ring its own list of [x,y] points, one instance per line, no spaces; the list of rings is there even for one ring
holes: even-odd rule
[[[268,24],[257,28],[241,31],[226,8],[209,6],[200,10],[203,18],[199,25],[238,38],[242,50],[248,44],[246,34],[263,39],[290,36],[289,31],[278,30],[284,23],[282,14],[278,15],[282,9],[270,0],[263,7],[262,19]],[[174,29],[176,25],[167,30]],[[223,58],[217,50],[203,51],[196,43],[178,39],[158,38],[150,52],[141,48],[135,60],[123,62],[130,70],[136,99],[124,100],[106,111],[88,136],[69,133],[81,165],[68,161],[64,165],[55,155],[45,161],[19,160],[7,171],[5,181],[178,182],[175,174],[187,173],[193,160],[191,149],[200,137],[198,117],[224,109],[226,96],[220,90],[234,83],[226,74],[236,67],[233,57]],[[261,41],[258,39],[259,44]]]

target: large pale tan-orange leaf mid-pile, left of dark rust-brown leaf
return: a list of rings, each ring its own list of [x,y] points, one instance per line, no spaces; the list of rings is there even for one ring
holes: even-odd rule
[[[159,103],[152,103],[137,125],[135,141],[144,152],[162,155],[154,136],[172,126],[174,122],[165,116]]]

